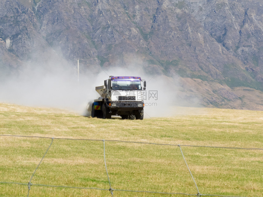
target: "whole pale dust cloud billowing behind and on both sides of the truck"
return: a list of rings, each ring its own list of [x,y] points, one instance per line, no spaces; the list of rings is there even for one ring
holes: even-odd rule
[[[176,115],[172,106],[183,103],[178,97],[178,77],[161,75],[161,71],[147,73],[143,62],[126,67],[93,65],[87,72],[80,73],[79,82],[76,65],[53,60],[44,65],[27,63],[19,73],[0,82],[0,102],[62,108],[89,116],[90,104],[99,97],[95,86],[102,86],[104,80],[113,75],[139,76],[146,80],[145,118]]]

